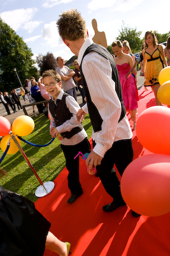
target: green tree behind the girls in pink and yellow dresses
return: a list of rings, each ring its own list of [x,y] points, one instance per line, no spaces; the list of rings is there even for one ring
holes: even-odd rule
[[[125,26],[123,21],[122,31],[119,30],[119,33],[117,40],[121,42],[127,40],[133,53],[141,51],[141,45],[143,43],[143,40],[140,38],[141,31],[137,31],[136,28],[131,28],[128,25]]]

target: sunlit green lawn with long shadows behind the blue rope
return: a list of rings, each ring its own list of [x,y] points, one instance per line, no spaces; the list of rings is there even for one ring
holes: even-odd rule
[[[34,131],[23,138],[37,145],[45,145],[52,140],[49,133],[50,120],[45,115],[34,116],[33,119],[35,122]],[[92,135],[89,115],[85,116],[83,127],[89,139]],[[42,182],[53,181],[66,166],[65,157],[60,148],[60,141],[57,138],[47,147],[34,147],[23,141],[21,141],[21,147]],[[0,158],[1,156],[3,156],[2,150],[0,150]],[[38,199],[34,193],[40,184],[19,150],[15,154],[6,154],[1,163],[1,168],[8,173],[7,176],[1,178],[0,184],[4,189],[25,196],[32,202]]]

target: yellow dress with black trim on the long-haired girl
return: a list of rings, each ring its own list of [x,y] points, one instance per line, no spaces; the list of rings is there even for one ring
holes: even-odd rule
[[[164,68],[163,62],[160,56],[159,48],[150,55],[145,50],[145,58],[147,60],[145,68],[145,86],[152,86],[159,83],[159,72]]]

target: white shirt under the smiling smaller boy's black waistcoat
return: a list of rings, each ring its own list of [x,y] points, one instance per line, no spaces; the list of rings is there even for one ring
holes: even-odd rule
[[[61,89],[57,99],[61,100],[63,93],[64,93],[64,91]],[[57,99],[54,100],[52,97],[52,100],[55,102],[55,104],[57,102]],[[76,113],[80,109],[80,106],[76,102],[76,100],[70,95],[66,97],[66,106],[69,109],[70,113],[73,114],[73,116],[71,116],[71,118],[69,120],[66,120],[66,122],[64,122],[63,124],[57,126],[57,131],[59,133],[71,131],[71,129],[80,125],[80,122],[76,118]],[[53,116],[50,113],[49,104],[48,104],[48,116],[51,120],[50,128],[56,127],[55,120],[53,120]],[[81,141],[83,141],[86,137],[87,137],[87,133],[86,133],[85,129],[83,128],[80,132],[74,134],[70,139],[63,138],[62,140],[60,140],[60,143],[62,145],[76,145],[76,144],[80,143]]]

